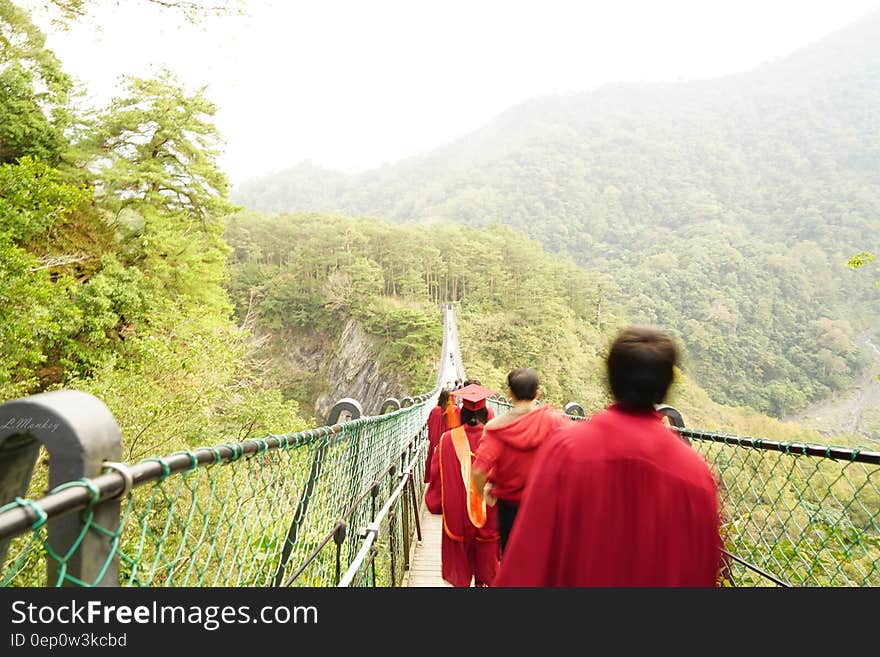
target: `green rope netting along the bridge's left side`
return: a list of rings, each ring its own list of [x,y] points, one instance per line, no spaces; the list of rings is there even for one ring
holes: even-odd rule
[[[248,455],[244,443],[217,446],[209,448],[214,459],[205,464],[194,452],[183,452],[192,466],[182,472],[171,472],[171,455],[148,459],[162,465],[162,475],[121,500],[118,526],[101,526],[89,506],[80,511],[79,536],[58,554],[49,546],[43,514],[30,531],[12,538],[0,583],[94,586],[115,562],[122,586],[272,586],[289,583],[297,571],[295,586],[332,586],[335,543],[308,564],[307,558],[344,518],[340,564],[348,567],[361,545],[357,529],[369,524],[371,511],[393,488],[389,466],[397,466],[399,481],[402,459],[425,442],[426,412],[421,403],[336,430],[271,436],[280,439],[276,449],[268,448],[267,439],[250,441],[257,449]],[[221,447],[232,456],[221,458]],[[90,498],[97,500],[96,490]],[[34,502],[16,500],[0,514],[22,505],[42,513]],[[93,581],[81,581],[68,564],[90,532],[109,542],[108,556]]]

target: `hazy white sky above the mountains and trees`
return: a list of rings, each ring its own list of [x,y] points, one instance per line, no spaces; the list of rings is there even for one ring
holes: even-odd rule
[[[378,166],[442,146],[538,94],[742,71],[880,8],[880,0],[247,0],[245,16],[190,25],[143,0],[94,1],[94,17],[66,32],[37,17],[66,70],[99,100],[120,75],[162,67],[207,86],[233,182],[306,159],[345,171]]]

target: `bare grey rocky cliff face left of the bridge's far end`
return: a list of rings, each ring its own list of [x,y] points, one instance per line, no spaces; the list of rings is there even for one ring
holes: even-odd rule
[[[279,385],[307,414],[313,411],[318,424],[344,397],[358,400],[366,415],[374,415],[387,397],[414,394],[401,379],[380,371],[377,339],[355,320],[338,335],[285,334],[273,342]]]

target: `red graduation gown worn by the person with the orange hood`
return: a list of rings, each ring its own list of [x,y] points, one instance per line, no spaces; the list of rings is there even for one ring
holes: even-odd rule
[[[463,427],[470,454],[479,445],[483,425]],[[431,483],[425,491],[425,504],[431,513],[443,514],[441,556],[443,579],[453,586],[491,584],[498,569],[498,529],[496,510],[485,507],[485,521],[477,527],[468,513],[465,477],[470,482],[470,462],[462,462],[453,443],[452,431],[443,434],[431,460]],[[472,508],[481,506],[471,494]],[[475,515],[479,515],[476,513]]]

